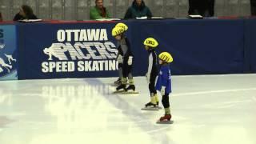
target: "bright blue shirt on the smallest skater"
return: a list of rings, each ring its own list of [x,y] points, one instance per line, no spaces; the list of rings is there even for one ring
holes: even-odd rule
[[[160,91],[162,86],[166,86],[166,94],[171,93],[170,65],[162,65],[159,71],[155,88]]]

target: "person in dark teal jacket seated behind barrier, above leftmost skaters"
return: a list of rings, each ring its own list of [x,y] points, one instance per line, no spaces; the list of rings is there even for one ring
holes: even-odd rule
[[[152,13],[150,9],[145,5],[142,0],[134,0],[132,6],[126,11],[125,19],[136,18],[136,17],[147,17],[151,18]]]

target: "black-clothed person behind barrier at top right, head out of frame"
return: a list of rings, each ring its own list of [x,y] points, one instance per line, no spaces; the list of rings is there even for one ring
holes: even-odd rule
[[[203,17],[214,16],[215,0],[189,0],[189,14],[200,14]]]

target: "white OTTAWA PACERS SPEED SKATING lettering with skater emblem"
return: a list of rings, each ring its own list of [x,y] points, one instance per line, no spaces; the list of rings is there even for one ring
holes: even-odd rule
[[[43,73],[118,70],[118,50],[106,29],[58,30],[57,40],[42,50]]]

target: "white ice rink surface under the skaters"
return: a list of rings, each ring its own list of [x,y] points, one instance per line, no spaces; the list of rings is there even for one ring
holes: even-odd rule
[[[141,110],[146,78],[134,95],[112,94],[115,80],[0,82],[0,144],[256,143],[256,74],[173,76],[172,125]]]

